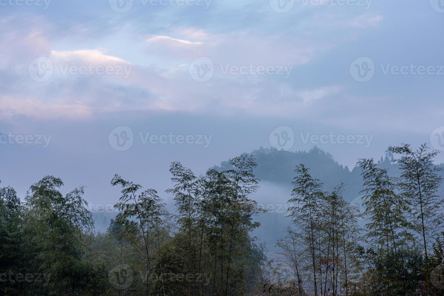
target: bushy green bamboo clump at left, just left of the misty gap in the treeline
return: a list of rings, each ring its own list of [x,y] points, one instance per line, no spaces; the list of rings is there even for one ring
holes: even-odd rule
[[[83,234],[93,228],[92,214],[83,199],[83,186],[63,197],[59,178],[46,176],[31,185],[26,209],[31,230],[31,242],[38,250],[40,267],[51,275],[48,288],[53,293],[76,293],[76,281],[86,276],[83,264]],[[47,250],[50,250],[49,252]]]

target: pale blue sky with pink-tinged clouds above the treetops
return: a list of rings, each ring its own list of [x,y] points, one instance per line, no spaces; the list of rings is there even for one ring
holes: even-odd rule
[[[443,0],[0,0],[0,180],[114,203],[259,147],[444,150]],[[438,161],[444,162],[443,155]],[[166,197],[167,198],[167,197]]]

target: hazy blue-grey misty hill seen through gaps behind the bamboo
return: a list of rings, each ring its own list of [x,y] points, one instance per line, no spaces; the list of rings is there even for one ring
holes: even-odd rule
[[[323,183],[323,189],[332,190],[335,186],[344,183],[343,196],[346,201],[353,202],[359,200],[362,190],[361,169],[354,167],[352,170],[347,166],[342,166],[334,160],[333,156],[324,150],[313,147],[307,151],[284,151],[275,148],[259,148],[252,152],[258,167],[254,170],[256,178],[261,182],[261,188],[258,193],[252,197],[261,205],[274,206],[274,210],[269,213],[260,214],[254,217],[255,221],[261,223],[261,226],[254,231],[261,241],[265,241],[269,248],[269,257],[274,257],[273,247],[278,238],[283,237],[285,228],[291,224],[286,215],[288,208],[287,201],[293,188],[292,181],[295,177],[294,167],[304,164],[310,169],[314,178]],[[392,155],[386,154],[379,159],[380,166],[389,171],[392,176],[399,177],[400,172],[397,165],[392,163]],[[441,164],[440,166],[443,166]],[[214,166],[216,170],[230,169],[228,161],[222,162],[219,166]],[[444,172],[443,176],[444,176]],[[444,196],[444,186],[440,190],[441,196]],[[173,210],[172,208],[170,210]],[[106,217],[105,217],[106,216]],[[95,214],[96,230],[105,231],[109,220],[115,217],[114,214]],[[362,222],[364,225],[364,222]],[[362,225],[362,226],[363,226]]]

